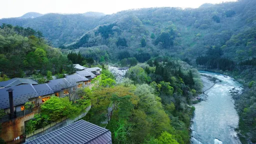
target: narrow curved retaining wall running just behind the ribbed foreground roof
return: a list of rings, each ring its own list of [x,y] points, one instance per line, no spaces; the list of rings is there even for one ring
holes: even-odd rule
[[[85,109],[85,112],[82,112],[79,116],[75,117],[74,119],[67,118],[67,119],[65,119],[65,120],[63,120],[63,121],[61,121],[61,122],[59,122],[59,123],[49,127],[48,129],[43,130],[42,132],[36,133],[36,134],[34,134],[34,135],[30,136],[30,137],[26,137],[25,141],[32,140],[32,139],[34,139],[36,137],[42,136],[43,134],[46,134],[46,133],[51,132],[51,131],[54,131],[54,130],[59,129],[61,127],[64,127],[64,126],[66,126],[68,124],[71,124],[74,121],[77,121],[78,119],[82,118],[83,116],[85,116],[87,114],[87,112],[89,111],[90,107],[91,106],[88,106]]]

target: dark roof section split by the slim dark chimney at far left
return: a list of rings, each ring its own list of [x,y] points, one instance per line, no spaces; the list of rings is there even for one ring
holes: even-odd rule
[[[12,86],[13,89],[13,104],[14,106],[24,104],[29,98],[39,96],[33,88],[32,84],[23,84],[18,86]],[[0,108],[5,109],[9,107],[9,87],[0,88]]]

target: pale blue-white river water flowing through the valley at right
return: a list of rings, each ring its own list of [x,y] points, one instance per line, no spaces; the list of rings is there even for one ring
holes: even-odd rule
[[[214,84],[201,76],[203,91],[209,89],[205,91],[206,100],[194,104],[191,143],[240,143],[234,130],[238,126],[238,114],[230,90],[241,93],[241,85],[229,76],[210,72],[203,74],[214,76],[221,82]]]

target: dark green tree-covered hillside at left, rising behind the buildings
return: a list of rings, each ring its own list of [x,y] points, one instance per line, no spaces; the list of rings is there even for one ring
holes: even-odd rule
[[[10,24],[0,26],[0,76],[34,74],[33,78],[37,79],[42,75],[50,77],[51,74],[72,71],[72,62],[58,48],[49,46],[40,31]]]

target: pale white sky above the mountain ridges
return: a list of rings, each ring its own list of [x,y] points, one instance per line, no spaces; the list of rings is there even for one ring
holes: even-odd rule
[[[18,17],[26,12],[84,13],[87,11],[112,14],[121,10],[144,7],[191,7],[203,3],[236,0],[0,0],[0,18]]]

